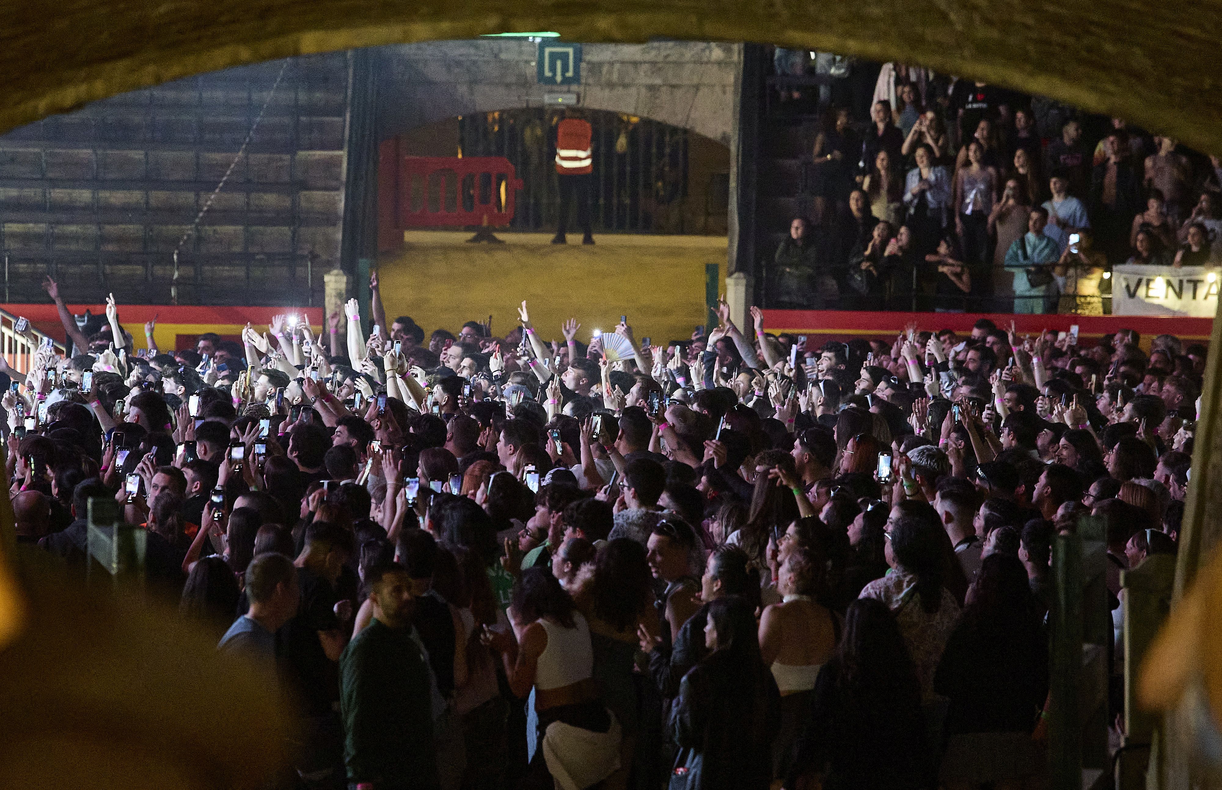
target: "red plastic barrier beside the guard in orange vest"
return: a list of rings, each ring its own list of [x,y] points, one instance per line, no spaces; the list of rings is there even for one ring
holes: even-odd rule
[[[378,163],[379,248],[407,227],[506,227],[522,180],[505,157],[404,157],[382,141]]]

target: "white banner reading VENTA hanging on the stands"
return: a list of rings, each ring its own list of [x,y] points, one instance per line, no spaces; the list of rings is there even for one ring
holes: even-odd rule
[[[1220,276],[1217,267],[1116,267],[1112,314],[1213,318]]]

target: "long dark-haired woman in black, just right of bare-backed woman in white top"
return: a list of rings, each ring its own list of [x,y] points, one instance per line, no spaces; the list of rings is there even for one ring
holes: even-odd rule
[[[854,600],[835,655],[819,673],[807,731],[787,790],[918,790],[934,786],[921,691],[904,637],[887,607]]]

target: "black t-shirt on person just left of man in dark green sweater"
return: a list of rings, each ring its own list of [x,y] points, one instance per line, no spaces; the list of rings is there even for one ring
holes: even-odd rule
[[[340,597],[330,582],[308,567],[297,569],[297,585],[301,608],[276,633],[276,655],[297,693],[302,714],[327,715],[340,698],[340,674],[338,664],[323,652],[318,632],[340,629],[340,619],[335,616]]]

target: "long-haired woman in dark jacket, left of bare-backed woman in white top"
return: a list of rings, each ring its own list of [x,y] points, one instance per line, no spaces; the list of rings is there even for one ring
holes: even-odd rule
[[[675,772],[690,790],[765,790],[771,783],[780,695],[760,655],[754,611],[738,596],[710,603],[710,653],[679,684],[671,708]]]

